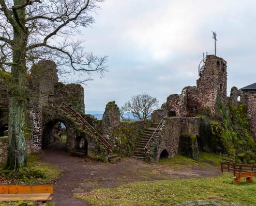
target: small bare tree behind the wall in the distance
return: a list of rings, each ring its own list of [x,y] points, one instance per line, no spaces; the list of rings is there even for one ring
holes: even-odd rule
[[[132,113],[135,118],[140,120],[147,119],[151,113],[158,108],[158,100],[148,94],[139,94],[131,97],[121,107],[121,113]]]

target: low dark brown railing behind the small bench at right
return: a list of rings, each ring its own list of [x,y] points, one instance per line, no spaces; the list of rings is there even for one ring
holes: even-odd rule
[[[254,168],[256,168],[255,164],[238,164],[238,163],[221,161],[221,173],[223,173],[224,169],[227,169],[228,172],[233,171],[234,176],[236,172],[241,173],[244,171],[254,171]]]

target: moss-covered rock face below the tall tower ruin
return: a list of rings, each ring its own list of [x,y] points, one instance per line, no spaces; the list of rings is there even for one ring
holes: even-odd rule
[[[237,162],[256,163],[256,145],[249,130],[246,110],[243,104],[224,105],[218,98],[215,116],[201,118],[200,148],[228,154]]]

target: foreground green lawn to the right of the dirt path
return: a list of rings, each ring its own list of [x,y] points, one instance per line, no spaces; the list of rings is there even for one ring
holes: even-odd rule
[[[256,183],[232,183],[232,174],[155,182],[132,182],[115,188],[100,188],[75,194],[95,206],[177,205],[190,200],[216,200],[255,205]]]

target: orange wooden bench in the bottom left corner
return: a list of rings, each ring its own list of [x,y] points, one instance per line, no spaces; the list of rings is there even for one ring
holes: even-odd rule
[[[0,185],[1,201],[40,201],[52,200],[53,185]]]

